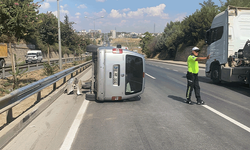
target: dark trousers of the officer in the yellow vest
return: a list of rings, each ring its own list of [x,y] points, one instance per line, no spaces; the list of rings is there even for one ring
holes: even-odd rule
[[[191,100],[193,89],[195,92],[196,100],[200,101],[201,96],[200,96],[200,85],[199,85],[198,74],[193,74],[193,73],[188,72],[187,73],[187,92],[186,92],[187,100]]]

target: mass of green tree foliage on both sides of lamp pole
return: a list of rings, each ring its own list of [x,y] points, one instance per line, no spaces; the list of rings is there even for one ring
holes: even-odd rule
[[[40,2],[33,0],[0,0],[0,42],[23,39],[44,53],[58,51],[58,19],[51,13],[38,14]],[[74,22],[66,15],[61,22],[62,54],[83,54],[92,41],[77,35]]]

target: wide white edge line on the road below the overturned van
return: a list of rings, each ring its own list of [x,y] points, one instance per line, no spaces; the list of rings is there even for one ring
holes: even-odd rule
[[[72,123],[69,131],[68,131],[68,134],[67,136],[65,137],[64,139],[64,142],[60,148],[60,150],[70,150],[71,148],[71,145],[75,139],[75,136],[76,136],[76,132],[81,124],[81,121],[82,121],[82,118],[83,118],[83,115],[87,109],[87,106],[89,104],[89,101],[87,100],[84,100],[83,103],[82,103],[82,106],[81,108],[79,109],[76,117],[75,117],[75,120],[74,122]]]

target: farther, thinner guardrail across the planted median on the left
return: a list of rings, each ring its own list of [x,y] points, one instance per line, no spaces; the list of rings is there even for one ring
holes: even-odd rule
[[[79,60],[84,60],[84,59],[85,59],[85,57],[69,57],[69,58],[62,58],[62,61],[65,62],[65,63],[67,63],[67,62],[72,62],[74,60],[75,61],[79,61]],[[42,66],[43,63],[45,63],[45,62],[48,62],[48,61],[46,60],[44,62],[41,62],[41,63],[37,62],[37,63],[34,63],[34,64],[32,64],[32,63],[31,64],[23,64],[23,65],[19,65],[18,67],[20,69],[28,68],[28,71],[29,71],[30,67]],[[50,63],[59,63],[59,59],[50,60]],[[6,71],[11,71],[11,70],[12,70],[11,66],[2,67],[0,69],[0,73],[2,73],[0,78],[4,79],[6,77],[6,74],[5,74]]]

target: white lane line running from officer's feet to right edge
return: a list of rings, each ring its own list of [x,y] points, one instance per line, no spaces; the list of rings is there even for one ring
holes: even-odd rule
[[[242,123],[240,123],[240,122],[238,122],[238,121],[236,121],[236,120],[234,120],[234,119],[232,119],[232,118],[230,118],[230,117],[224,115],[223,113],[221,113],[221,112],[219,112],[219,111],[213,109],[212,107],[209,107],[208,105],[202,105],[202,106],[205,107],[205,108],[207,108],[208,110],[214,112],[215,114],[221,116],[222,118],[224,118],[224,119],[230,121],[231,123],[237,125],[238,127],[240,127],[240,128],[242,128],[242,129],[244,129],[244,130],[250,132],[250,128],[247,127],[247,126],[245,126],[244,124],[242,124]]]

